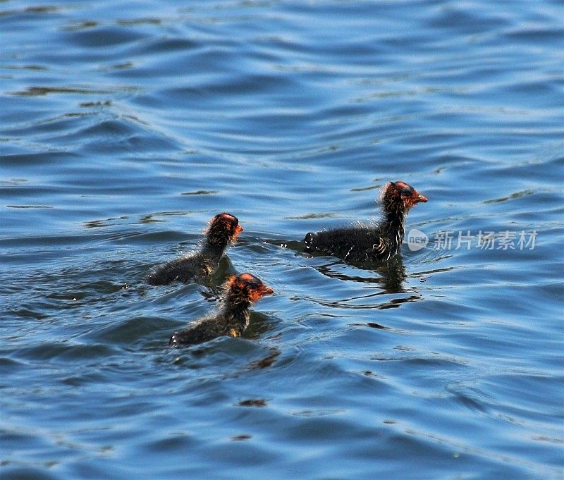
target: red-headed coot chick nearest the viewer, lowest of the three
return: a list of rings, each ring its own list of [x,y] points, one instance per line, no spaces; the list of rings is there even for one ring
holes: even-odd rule
[[[240,336],[249,325],[250,305],[271,293],[274,290],[250,273],[231,276],[219,311],[173,333],[170,345],[195,345],[220,336]]]

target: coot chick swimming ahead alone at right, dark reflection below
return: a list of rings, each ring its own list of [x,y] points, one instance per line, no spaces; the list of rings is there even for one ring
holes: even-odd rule
[[[391,182],[384,186],[381,200],[381,223],[307,233],[305,251],[349,261],[386,261],[393,257],[403,242],[407,212],[415,204],[427,202],[427,197],[405,182]]]

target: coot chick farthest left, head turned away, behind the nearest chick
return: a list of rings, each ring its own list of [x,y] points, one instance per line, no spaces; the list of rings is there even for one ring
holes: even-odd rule
[[[226,213],[214,216],[209,223],[204,245],[198,252],[154,267],[147,282],[151,285],[168,285],[173,281],[201,281],[209,277],[217,270],[228,245],[235,242],[242,231],[237,217]]]

